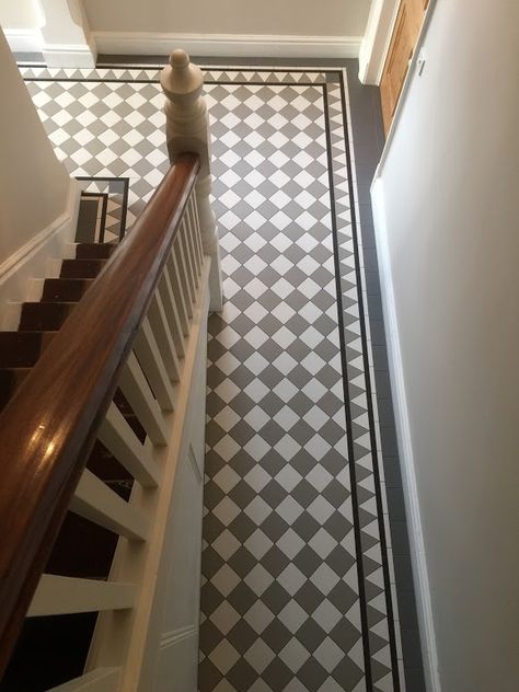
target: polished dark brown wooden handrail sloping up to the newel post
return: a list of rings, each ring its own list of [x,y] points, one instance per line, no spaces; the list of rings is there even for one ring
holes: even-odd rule
[[[199,170],[181,154],[0,416],[0,677]]]

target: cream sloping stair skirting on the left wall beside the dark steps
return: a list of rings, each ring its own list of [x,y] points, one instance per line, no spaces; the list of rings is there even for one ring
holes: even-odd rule
[[[48,262],[64,257],[67,244],[73,242],[80,196],[79,183],[71,180],[64,214],[0,265],[0,328],[18,327],[13,305],[27,300],[31,279],[47,276]]]

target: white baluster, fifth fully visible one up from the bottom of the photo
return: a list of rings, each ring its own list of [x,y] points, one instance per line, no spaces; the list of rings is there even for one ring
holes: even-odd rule
[[[134,353],[162,411],[173,411],[175,392],[148,318],[140,325],[134,342]]]

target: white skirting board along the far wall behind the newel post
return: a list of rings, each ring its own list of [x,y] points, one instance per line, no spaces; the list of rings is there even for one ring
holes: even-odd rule
[[[361,36],[275,36],[93,32],[97,53],[169,55],[184,48],[200,57],[357,58]]]

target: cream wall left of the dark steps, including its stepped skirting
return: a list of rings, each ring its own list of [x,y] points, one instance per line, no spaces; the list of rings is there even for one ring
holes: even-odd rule
[[[0,30],[0,328],[76,233],[80,187],[54,153]],[[37,300],[33,296],[33,300]]]

